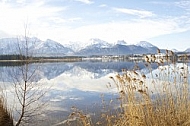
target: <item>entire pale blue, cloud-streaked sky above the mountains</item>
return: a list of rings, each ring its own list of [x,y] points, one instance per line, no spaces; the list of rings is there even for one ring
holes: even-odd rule
[[[148,41],[190,48],[190,0],[0,0],[0,38],[24,35],[61,44]]]

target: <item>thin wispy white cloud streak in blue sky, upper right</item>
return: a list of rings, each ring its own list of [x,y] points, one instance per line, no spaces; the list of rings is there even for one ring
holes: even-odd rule
[[[139,16],[140,18],[146,18],[146,17],[152,17],[155,16],[154,13],[150,11],[145,11],[145,10],[134,10],[134,9],[127,9],[127,8],[113,8],[117,12],[129,14],[129,15],[136,15]]]

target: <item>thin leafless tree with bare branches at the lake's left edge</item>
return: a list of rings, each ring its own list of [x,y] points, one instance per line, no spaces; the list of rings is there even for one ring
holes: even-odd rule
[[[39,67],[31,66],[30,64],[33,61],[33,51],[29,48],[31,39],[28,37],[27,25],[25,25],[24,30],[25,34],[22,40],[18,38],[18,51],[22,65],[18,68],[13,68],[10,74],[13,79],[15,101],[17,101],[15,105],[16,126],[26,125],[35,116],[41,114],[45,103],[40,102],[40,99],[46,93],[42,85],[36,82],[39,77]]]

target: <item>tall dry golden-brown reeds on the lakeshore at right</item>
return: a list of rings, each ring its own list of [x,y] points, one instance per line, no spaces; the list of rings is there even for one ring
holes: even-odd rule
[[[74,112],[72,116],[77,116],[78,124],[85,126],[189,126],[187,56],[182,60],[183,63],[177,64],[174,53],[166,50],[165,57],[146,57],[145,66],[149,75],[135,66],[134,70],[123,70],[122,74],[110,77],[117,88],[120,107],[114,114],[102,113],[101,118],[106,124],[89,122],[89,117],[82,113]],[[157,63],[157,72],[152,70],[152,62]]]

